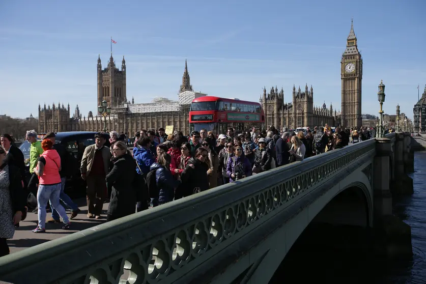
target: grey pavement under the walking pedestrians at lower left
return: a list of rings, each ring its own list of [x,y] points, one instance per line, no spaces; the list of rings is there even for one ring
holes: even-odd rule
[[[87,217],[88,207],[85,205],[86,198],[81,198],[74,202],[77,203],[81,211],[77,217],[70,220],[71,227],[68,230],[62,230],[62,223],[46,223],[46,233],[35,234],[31,232],[31,230],[35,229],[37,226],[37,213],[29,212],[26,219],[19,223],[19,228],[16,228],[13,239],[8,240],[10,253],[58,239],[84,229],[92,228],[106,221],[107,203],[103,205],[104,212],[102,214],[102,219],[89,219]],[[67,214],[70,216],[70,211],[67,211]],[[50,219],[51,215],[51,211],[49,210],[46,220]]]

